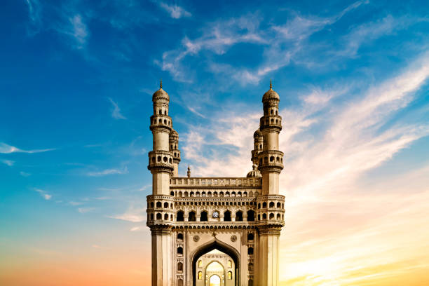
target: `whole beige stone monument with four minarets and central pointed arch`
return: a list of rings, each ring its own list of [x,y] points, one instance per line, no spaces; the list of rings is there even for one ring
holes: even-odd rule
[[[162,81],[152,101],[152,194],[147,196],[152,285],[278,285],[285,196],[278,182],[280,97],[271,82],[262,97],[264,115],[253,135],[253,169],[246,177],[192,177],[190,168],[187,177],[179,177],[179,135]]]

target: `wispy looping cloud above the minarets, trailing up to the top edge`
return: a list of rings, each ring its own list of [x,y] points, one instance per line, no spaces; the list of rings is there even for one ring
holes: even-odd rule
[[[214,74],[222,74],[226,79],[236,79],[244,84],[257,84],[266,76],[287,64],[301,50],[305,49],[305,41],[316,32],[333,25],[343,15],[353,11],[367,1],[357,1],[344,8],[336,15],[320,18],[295,14],[292,20],[284,25],[269,23],[267,27],[259,27],[263,18],[258,13],[244,15],[230,20],[219,20],[203,28],[203,35],[191,40],[187,36],[182,39],[182,45],[177,50],[163,53],[162,63],[157,62],[177,81],[192,81],[191,71],[182,64],[185,57],[196,56],[200,51],[209,50],[216,55],[223,55],[226,50],[237,43],[253,43],[262,45],[264,60],[256,68],[236,67],[220,62],[205,63]]]

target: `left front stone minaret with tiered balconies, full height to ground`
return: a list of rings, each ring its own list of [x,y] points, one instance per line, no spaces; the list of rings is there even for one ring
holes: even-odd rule
[[[169,286],[172,281],[172,235],[174,213],[173,197],[170,196],[170,174],[174,171],[173,154],[170,151],[172,120],[168,116],[170,97],[163,90],[152,95],[154,115],[151,116],[153,150],[149,152],[152,173],[152,195],[147,196],[147,226],[152,235],[152,286]]]

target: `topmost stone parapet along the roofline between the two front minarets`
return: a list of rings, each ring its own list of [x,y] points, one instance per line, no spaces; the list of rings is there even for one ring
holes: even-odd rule
[[[254,188],[261,189],[261,178],[247,177],[175,177],[170,179],[170,188]]]

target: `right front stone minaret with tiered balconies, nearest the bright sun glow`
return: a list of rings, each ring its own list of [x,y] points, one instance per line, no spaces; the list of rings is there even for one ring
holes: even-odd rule
[[[282,130],[282,118],[278,115],[280,97],[270,89],[262,97],[264,116],[259,130],[263,137],[263,149],[258,156],[258,169],[262,174],[262,195],[257,197],[259,221],[259,249],[257,250],[257,285],[277,286],[279,270],[279,237],[283,222],[276,220],[271,210],[275,209],[273,198],[280,198],[279,175],[283,169],[283,153],[279,151],[278,135]],[[284,197],[281,196],[283,199]]]

